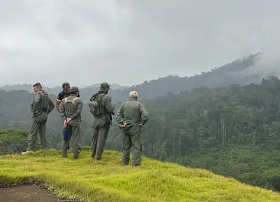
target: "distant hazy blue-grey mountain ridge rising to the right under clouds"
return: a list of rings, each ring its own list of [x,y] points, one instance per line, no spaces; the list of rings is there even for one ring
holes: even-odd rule
[[[202,86],[214,89],[216,87],[225,87],[231,84],[248,85],[251,82],[258,83],[261,82],[263,75],[259,75],[258,73],[244,73],[244,70],[254,66],[260,57],[260,53],[249,55],[248,57],[237,59],[234,62],[225,64],[219,68],[213,68],[209,72],[202,72],[200,75],[193,75],[190,77],[169,75],[165,78],[145,81],[133,87],[121,87],[120,85],[113,84],[111,85],[110,94],[113,101],[118,102],[125,101],[127,95],[134,89],[137,89],[137,92],[139,92],[140,99],[154,99],[157,96],[165,96],[169,92],[179,94],[180,92]],[[62,87],[44,88],[49,94],[58,94]],[[25,89],[31,91],[31,85],[4,86],[2,89]],[[99,89],[99,84],[80,89],[83,101],[88,101],[92,94]]]

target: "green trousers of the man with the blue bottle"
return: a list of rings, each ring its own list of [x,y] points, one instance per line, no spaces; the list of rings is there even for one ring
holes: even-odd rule
[[[67,140],[62,140],[62,157],[67,157],[67,149],[70,140],[73,141],[73,158],[78,159],[82,147],[80,145],[81,131],[80,122],[69,122],[67,124]]]

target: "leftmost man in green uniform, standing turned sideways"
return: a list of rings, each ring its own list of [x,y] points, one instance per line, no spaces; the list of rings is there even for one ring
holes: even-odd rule
[[[48,121],[48,114],[55,108],[55,104],[50,100],[48,93],[42,89],[42,85],[36,82],[33,85],[34,101],[30,105],[31,110],[31,130],[28,136],[27,152],[35,151],[36,138],[39,134],[41,149],[47,148],[47,136],[45,124]],[[27,152],[22,152],[25,154]]]

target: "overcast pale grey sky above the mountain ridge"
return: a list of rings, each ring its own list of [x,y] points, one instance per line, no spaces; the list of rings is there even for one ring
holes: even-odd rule
[[[0,84],[134,85],[280,46],[279,0],[0,2]]]

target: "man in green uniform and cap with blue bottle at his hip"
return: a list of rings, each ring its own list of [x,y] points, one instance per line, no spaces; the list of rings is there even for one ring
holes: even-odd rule
[[[73,159],[78,159],[80,154],[80,113],[83,110],[83,101],[78,97],[78,87],[71,87],[70,96],[62,99],[59,104],[59,115],[64,121],[63,127],[67,130],[67,139],[62,140],[62,157],[67,157],[67,147],[73,138]]]

